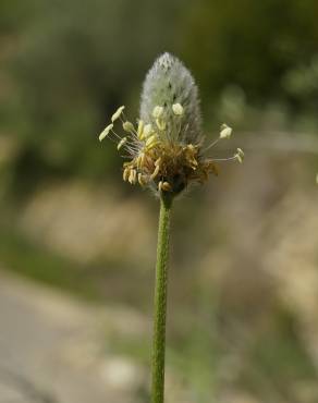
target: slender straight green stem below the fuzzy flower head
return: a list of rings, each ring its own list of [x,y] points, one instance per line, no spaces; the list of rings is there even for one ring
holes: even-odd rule
[[[161,197],[155,286],[152,403],[163,403],[164,399],[166,314],[171,205],[172,197]]]

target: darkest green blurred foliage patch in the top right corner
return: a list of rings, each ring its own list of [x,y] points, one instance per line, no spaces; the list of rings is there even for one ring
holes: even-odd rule
[[[318,52],[317,13],[315,0],[193,2],[182,48],[204,96],[216,99],[235,84],[250,101],[291,101],[282,78]]]

